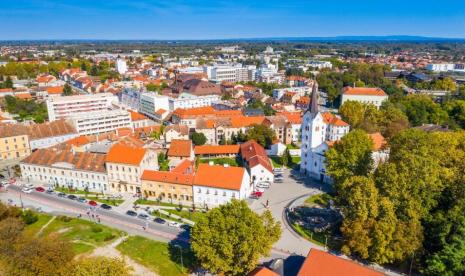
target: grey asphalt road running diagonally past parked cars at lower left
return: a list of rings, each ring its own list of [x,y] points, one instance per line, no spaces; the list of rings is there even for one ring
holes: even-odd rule
[[[87,203],[81,203],[68,198],[58,197],[56,194],[47,194],[44,192],[32,191],[30,194],[21,192],[20,187],[10,185],[7,189],[0,193],[0,200],[8,203],[8,199],[14,204],[20,206],[20,198],[25,207],[36,209],[41,207],[45,212],[52,214],[68,215],[77,217],[79,214],[82,219],[97,221],[97,215],[100,218],[100,223],[110,227],[115,227],[126,231],[129,234],[137,234],[160,241],[179,241],[188,242],[189,235],[186,231],[170,227],[168,225],[159,224],[153,221],[145,221],[136,217],[131,217],[126,214],[118,213],[114,210],[104,210],[100,207],[92,208]],[[21,195],[21,197],[20,197]],[[89,215],[87,214],[89,212]],[[92,214],[94,217],[92,217]],[[144,230],[143,227],[146,227]]]

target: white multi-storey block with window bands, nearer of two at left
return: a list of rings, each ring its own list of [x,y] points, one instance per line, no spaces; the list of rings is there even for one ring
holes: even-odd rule
[[[76,113],[69,119],[79,135],[92,135],[118,128],[131,128],[131,115],[122,109]]]

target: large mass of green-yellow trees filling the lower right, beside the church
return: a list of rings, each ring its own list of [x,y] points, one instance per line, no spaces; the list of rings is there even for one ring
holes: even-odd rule
[[[373,167],[372,141],[354,130],[326,153],[344,220],[343,252],[428,275],[465,273],[465,132],[409,129]]]

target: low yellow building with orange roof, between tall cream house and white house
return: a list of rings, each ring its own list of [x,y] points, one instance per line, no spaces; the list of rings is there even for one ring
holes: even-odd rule
[[[193,203],[193,168],[190,161],[184,161],[169,172],[145,170],[141,177],[142,194],[149,199],[164,202]]]

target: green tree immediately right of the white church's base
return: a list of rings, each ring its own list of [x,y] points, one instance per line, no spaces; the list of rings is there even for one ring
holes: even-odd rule
[[[373,141],[363,130],[353,130],[326,151],[326,169],[336,185],[351,176],[366,176],[372,169]]]

